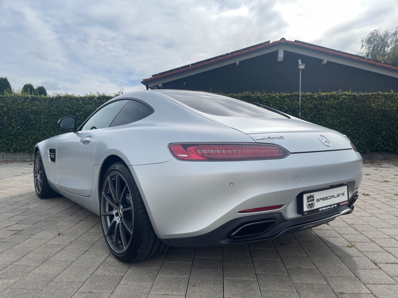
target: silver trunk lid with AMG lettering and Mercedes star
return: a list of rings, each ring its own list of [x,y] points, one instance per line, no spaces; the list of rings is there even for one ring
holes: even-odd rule
[[[206,115],[247,134],[257,143],[282,146],[291,153],[352,149],[349,139],[335,130],[297,118],[246,118]]]

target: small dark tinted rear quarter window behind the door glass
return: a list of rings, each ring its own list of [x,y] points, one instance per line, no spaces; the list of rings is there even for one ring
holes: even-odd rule
[[[115,120],[111,123],[111,126],[119,126],[136,122],[152,113],[153,110],[148,108],[148,106],[138,101],[131,100],[121,109],[119,114],[117,114]]]

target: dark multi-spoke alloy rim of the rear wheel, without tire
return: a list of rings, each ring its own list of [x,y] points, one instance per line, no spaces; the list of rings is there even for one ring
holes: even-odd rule
[[[101,191],[101,221],[106,241],[115,253],[124,253],[133,238],[134,210],[131,192],[119,172],[110,172]]]

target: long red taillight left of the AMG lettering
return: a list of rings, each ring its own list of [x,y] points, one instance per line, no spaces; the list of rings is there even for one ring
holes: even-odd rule
[[[171,153],[184,161],[280,159],[290,153],[273,144],[170,144]]]

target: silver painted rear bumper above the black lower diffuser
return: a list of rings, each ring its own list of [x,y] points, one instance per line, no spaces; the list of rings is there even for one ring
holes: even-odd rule
[[[223,230],[228,233],[252,219],[275,218],[278,222],[274,226],[285,221],[316,220],[297,212],[298,194],[347,184],[352,197],[362,179],[362,158],[354,150],[291,154],[285,159],[263,161],[189,162],[172,158],[129,168],[154,231],[165,243],[176,238],[193,239],[224,225],[228,225]],[[239,213],[274,205],[283,207],[250,215]],[[343,210],[342,206],[322,211],[319,219]],[[222,236],[217,234],[217,244]]]

